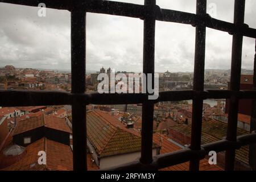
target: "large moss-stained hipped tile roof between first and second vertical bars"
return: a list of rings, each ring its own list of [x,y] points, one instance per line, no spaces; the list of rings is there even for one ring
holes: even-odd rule
[[[121,122],[114,121],[115,118],[108,113],[89,111],[86,118],[87,137],[98,155],[110,156],[141,150],[139,133],[124,128]],[[118,122],[119,125],[114,126],[113,122]],[[153,147],[158,145],[154,144]]]

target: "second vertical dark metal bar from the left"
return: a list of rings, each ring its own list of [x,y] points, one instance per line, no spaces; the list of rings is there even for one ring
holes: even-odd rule
[[[154,85],[155,72],[155,0],[145,0],[145,19],[143,35],[143,73],[152,74]],[[144,85],[144,86],[147,86]],[[154,103],[150,100],[142,104],[142,142],[141,163],[152,162],[152,134],[154,119]]]

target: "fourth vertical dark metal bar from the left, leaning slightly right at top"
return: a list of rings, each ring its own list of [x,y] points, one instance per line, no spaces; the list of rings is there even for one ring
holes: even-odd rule
[[[237,27],[242,27],[245,16],[245,0],[236,0],[234,3],[234,24]],[[232,42],[232,62],[231,62],[231,76],[230,76],[230,90],[240,90],[241,78],[241,59],[242,59],[242,43],[243,36],[240,32],[233,35]],[[226,139],[230,141],[237,140],[237,116],[238,116],[239,100],[233,95],[229,100],[229,117],[228,117],[228,131]],[[234,170],[234,160],[236,150],[227,150],[225,155],[225,170]]]

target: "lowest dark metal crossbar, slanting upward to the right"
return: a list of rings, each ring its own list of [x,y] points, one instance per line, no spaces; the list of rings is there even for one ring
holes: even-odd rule
[[[104,169],[110,171],[123,171],[123,170],[156,170],[165,167],[174,166],[176,164],[188,162],[191,159],[204,159],[209,151],[221,152],[225,150],[236,150],[250,143],[256,142],[256,133],[253,131],[251,134],[241,135],[237,137],[237,142],[230,142],[228,140],[220,140],[208,144],[201,145],[201,150],[193,151],[190,148],[170,152],[167,154],[156,155],[153,157],[151,164],[142,164],[139,160],[134,162],[122,164],[120,166]]]

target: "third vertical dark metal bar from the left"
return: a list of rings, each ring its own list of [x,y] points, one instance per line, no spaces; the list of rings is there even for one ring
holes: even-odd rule
[[[196,1],[196,14],[204,17],[207,11],[207,1]],[[204,90],[204,63],[205,63],[205,22],[200,22],[196,25],[196,47],[195,47],[195,65],[194,65],[194,78],[193,90]],[[203,114],[203,100],[201,98],[193,99],[192,107],[192,129],[191,129],[191,149],[201,149],[201,127],[202,127],[202,114]],[[199,170],[200,161],[195,159],[191,160],[189,169],[191,171]]]

